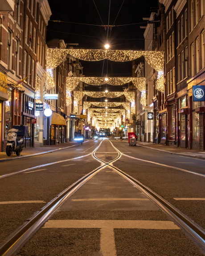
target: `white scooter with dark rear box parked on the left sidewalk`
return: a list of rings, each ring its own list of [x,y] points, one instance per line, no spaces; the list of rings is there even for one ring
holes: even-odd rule
[[[23,150],[24,144],[23,144],[23,137],[17,136],[17,132],[19,130],[17,129],[10,129],[8,130],[8,136],[7,136],[7,145],[6,145],[6,154],[8,156],[12,155],[14,152],[16,155],[20,155],[21,151]]]

